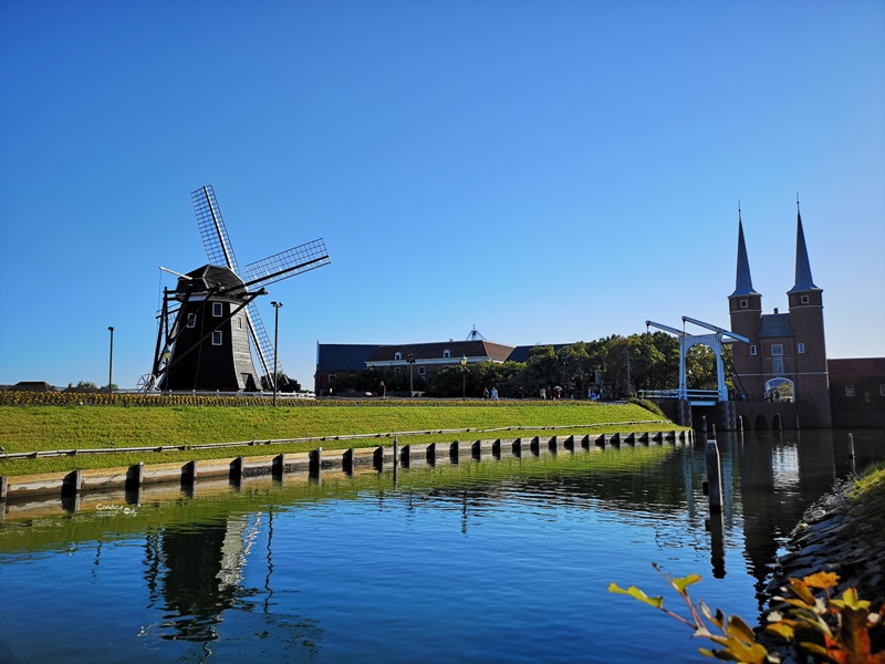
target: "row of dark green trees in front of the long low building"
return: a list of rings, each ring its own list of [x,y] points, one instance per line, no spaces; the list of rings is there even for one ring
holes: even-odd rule
[[[730,366],[730,346],[723,346],[726,366]],[[416,391],[428,396],[478,397],[497,387],[501,396],[546,397],[560,387],[565,398],[616,398],[641,390],[673,390],[679,384],[679,344],[665,332],[645,332],[554,347],[535,346],[528,362],[479,362],[446,366],[426,380],[409,376],[408,371],[369,367],[352,375],[342,375],[331,383],[333,394],[348,391],[378,392],[381,382],[391,392],[408,391],[410,381]],[[686,354],[686,381],[691,390],[715,390],[716,357],[710,347],[695,345]],[[730,378],[727,378],[730,385]]]

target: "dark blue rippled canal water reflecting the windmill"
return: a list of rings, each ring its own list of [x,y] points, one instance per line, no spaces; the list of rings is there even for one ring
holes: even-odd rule
[[[753,622],[847,432],[720,434],[710,520],[694,446],[560,452],[170,489],[0,523],[0,662],[709,662],[611,582],[652,563]],[[885,457],[854,432],[855,463]],[[27,513],[27,512],[25,512]]]

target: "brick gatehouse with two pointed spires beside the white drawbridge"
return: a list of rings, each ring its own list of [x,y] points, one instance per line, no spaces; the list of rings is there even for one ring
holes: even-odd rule
[[[811,277],[802,217],[796,200],[795,283],[787,291],[789,311],[762,313],[753,289],[738,208],[738,261],[735,292],[728,297],[731,330],[750,340],[732,346],[739,393],[754,400],[790,400],[796,414],[816,426],[831,425],[830,385],[823,328],[823,290]]]

